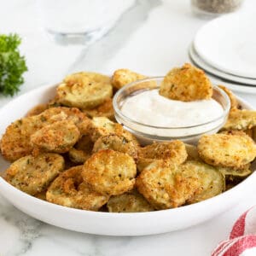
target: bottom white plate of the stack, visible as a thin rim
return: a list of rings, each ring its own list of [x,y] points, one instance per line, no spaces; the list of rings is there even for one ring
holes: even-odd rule
[[[195,67],[199,67],[204,70],[204,68],[201,67],[200,65],[198,65],[190,55],[189,55],[189,60]],[[207,73],[206,70],[205,70],[205,72]],[[231,83],[230,81],[228,81],[226,79],[221,79],[218,76],[215,76],[211,73],[207,73],[207,77],[209,79],[211,79],[212,84],[222,84],[222,85],[226,86],[227,88],[229,88],[230,90],[234,90],[237,92],[256,94],[256,86],[237,84],[235,82]]]

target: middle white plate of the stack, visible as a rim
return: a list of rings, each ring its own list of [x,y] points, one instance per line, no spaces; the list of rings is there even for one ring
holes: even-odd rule
[[[207,62],[203,61],[200,55],[198,55],[198,53],[195,51],[195,47],[193,43],[190,44],[189,46],[189,56],[198,66],[203,68],[207,73],[211,73],[214,76],[218,76],[221,79],[228,80],[231,83],[235,82],[239,84],[250,84],[250,85],[256,86],[256,79],[246,79],[246,78],[237,77],[230,73],[224,73],[207,64]]]

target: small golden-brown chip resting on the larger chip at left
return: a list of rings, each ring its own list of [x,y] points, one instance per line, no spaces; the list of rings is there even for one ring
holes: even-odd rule
[[[71,120],[45,125],[31,136],[34,148],[42,152],[66,153],[79,140],[80,132]]]

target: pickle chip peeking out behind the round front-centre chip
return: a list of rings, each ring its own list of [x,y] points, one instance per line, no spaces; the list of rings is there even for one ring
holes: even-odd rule
[[[128,141],[121,135],[110,134],[99,137],[94,144],[92,152],[96,153],[102,149],[112,149],[114,151],[126,153],[131,155],[133,159],[137,160],[137,146],[132,141]]]

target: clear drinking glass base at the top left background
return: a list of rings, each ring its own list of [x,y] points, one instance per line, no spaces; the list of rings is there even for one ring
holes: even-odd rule
[[[89,44],[119,18],[119,0],[38,0],[41,25],[60,44]]]

